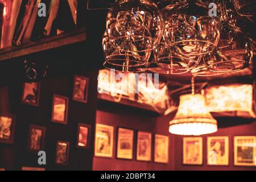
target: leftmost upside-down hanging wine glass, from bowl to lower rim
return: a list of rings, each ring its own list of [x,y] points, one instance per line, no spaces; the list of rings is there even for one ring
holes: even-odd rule
[[[162,37],[162,15],[149,0],[117,0],[106,18],[110,46],[122,58],[107,59],[105,67],[133,70],[147,67],[152,49]]]

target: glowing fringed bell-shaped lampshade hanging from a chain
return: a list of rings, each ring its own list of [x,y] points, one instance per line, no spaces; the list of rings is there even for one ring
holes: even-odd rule
[[[210,115],[201,94],[180,96],[180,105],[169,132],[177,135],[203,135],[217,131],[217,121]]]

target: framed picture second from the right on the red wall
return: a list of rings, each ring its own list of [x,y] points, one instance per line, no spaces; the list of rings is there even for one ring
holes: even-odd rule
[[[207,164],[229,165],[229,137],[207,137]]]

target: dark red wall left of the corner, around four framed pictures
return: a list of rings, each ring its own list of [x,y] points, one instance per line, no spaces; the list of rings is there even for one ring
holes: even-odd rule
[[[127,108],[128,109],[128,108]],[[116,110],[114,111],[116,112]],[[116,159],[116,144],[117,144],[117,127],[127,127],[130,129],[134,129],[136,131],[148,131],[152,134],[163,134],[168,135],[165,130],[159,129],[156,127],[157,118],[155,116],[152,116],[148,113],[136,112],[133,110],[126,110],[126,112],[115,114],[111,111],[100,111],[97,110],[97,116],[96,116],[96,123],[102,123],[106,125],[112,125],[114,126],[114,151],[113,151],[113,158],[93,158],[93,170],[171,170],[174,168],[174,163],[172,160],[169,160],[168,164],[160,164],[160,163],[154,163],[151,162],[139,162],[136,160],[136,151],[135,146],[137,142],[135,142],[134,146],[134,159],[133,160],[122,160],[122,159]],[[154,139],[154,135],[152,135],[152,139]],[[170,144],[172,149],[173,141],[170,138]],[[153,154],[154,150],[152,150]],[[172,154],[172,151],[169,151],[170,155]]]

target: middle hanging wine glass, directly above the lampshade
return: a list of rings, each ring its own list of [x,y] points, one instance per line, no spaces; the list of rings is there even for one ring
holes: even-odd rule
[[[156,64],[179,73],[188,72],[217,46],[220,19],[208,16],[208,6],[201,1],[164,3],[166,7],[161,11],[165,44],[160,43],[158,51],[154,51]]]

